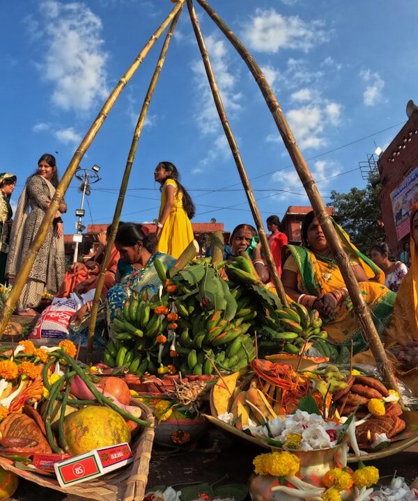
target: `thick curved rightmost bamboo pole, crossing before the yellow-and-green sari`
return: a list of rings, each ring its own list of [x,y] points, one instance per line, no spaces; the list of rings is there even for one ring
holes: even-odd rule
[[[238,39],[238,37],[233,33],[233,31],[231,31],[231,29],[229,29],[229,26],[227,26],[224,21],[222,21],[215,10],[213,10],[208,5],[208,2],[206,0],[197,1],[200,3],[202,8],[206,10],[206,13],[208,13],[215,24],[217,24],[226,38],[228,38],[233,47],[235,47],[235,49],[238,51],[238,54],[240,54],[242,59],[245,61],[245,63],[249,67],[249,70],[251,71],[251,74],[256,80],[258,87],[263,94],[265,102],[268,104],[268,107],[272,113],[274,122],[279,129],[281,138],[283,139],[284,144],[286,145],[286,148],[291,156],[293,164],[295,165],[297,174],[299,175],[304,189],[307,192],[311,205],[314,208],[316,217],[318,218],[318,221],[323,228],[323,232],[327,239],[328,245],[332,250],[332,254],[334,255],[336,262],[339,265],[339,269],[341,270],[344,282],[346,283],[351,301],[353,301],[355,314],[357,315],[359,324],[362,327],[364,335],[366,336],[366,340],[369,343],[369,348],[371,349],[371,352],[376,359],[378,368],[382,372],[382,376],[385,378],[385,381],[389,383],[390,387],[394,390],[397,390],[398,387],[394,372],[391,365],[389,364],[389,360],[387,359],[385,349],[378,335],[378,331],[376,331],[376,326],[373,324],[373,321],[371,319],[369,309],[367,308],[367,305],[364,302],[362,294],[359,290],[353,269],[350,266],[350,262],[345,251],[343,250],[339,236],[338,234],[336,234],[331,218],[330,216],[328,216],[325,210],[324,202],[320,196],[314,179],[312,178],[309,167],[302,157],[302,153],[297,146],[291,128],[288,125],[283,111],[281,111],[277,97],[274,95],[272,89],[268,84],[268,81],[265,79],[261,68],[258,66],[256,61],[254,61],[254,58],[251,56],[242,42]]]

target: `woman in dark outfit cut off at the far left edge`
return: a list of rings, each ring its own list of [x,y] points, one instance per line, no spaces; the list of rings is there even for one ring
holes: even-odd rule
[[[13,210],[10,206],[10,196],[16,186],[16,176],[11,173],[0,174],[0,284],[6,282],[6,260],[10,237],[10,224]]]

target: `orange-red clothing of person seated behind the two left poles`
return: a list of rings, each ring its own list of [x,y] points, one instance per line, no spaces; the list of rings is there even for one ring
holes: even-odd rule
[[[109,266],[104,276],[102,295],[106,295],[107,291],[115,283],[116,268],[118,267],[118,260],[120,257],[118,250],[113,246],[110,254]],[[79,263],[82,264],[82,267],[78,271],[72,271],[72,269],[68,270],[64,275],[63,283],[56,297],[68,297],[71,292],[85,294],[89,290],[95,289],[99,280],[100,266],[97,262],[87,262],[87,264],[90,263],[91,266]]]

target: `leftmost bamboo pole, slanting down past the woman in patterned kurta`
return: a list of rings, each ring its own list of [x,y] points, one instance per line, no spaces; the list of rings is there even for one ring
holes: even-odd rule
[[[75,171],[77,170],[77,167],[79,166],[80,161],[84,157],[84,153],[86,152],[86,150],[88,150],[96,134],[98,134],[100,127],[102,127],[103,122],[107,118],[109,111],[111,110],[112,106],[114,106],[119,95],[121,95],[123,88],[125,88],[127,82],[130,81],[132,75],[134,74],[134,72],[137,71],[142,61],[144,61],[144,58],[155,44],[155,41],[158,38],[160,38],[162,32],[167,28],[167,26],[169,25],[173,17],[178,13],[180,8],[182,8],[184,2],[185,0],[179,0],[178,3],[176,3],[176,6],[174,6],[173,10],[171,10],[171,13],[169,13],[167,18],[162,22],[162,24],[158,26],[158,28],[155,30],[155,32],[148,40],[148,42],[146,42],[146,45],[139,52],[137,58],[134,60],[132,65],[130,65],[127,72],[123,75],[121,80],[118,81],[118,84],[107,98],[107,101],[104,103],[97,118],[93,122],[93,125],[91,125],[90,129],[88,129],[86,136],[84,136],[82,142],[75,151],[75,154],[73,155],[70,164],[68,164],[68,167],[65,170],[65,173],[61,178],[59,185],[56,188],[54,198],[52,198],[51,204],[49,205],[49,208],[44,218],[42,219],[42,223],[40,225],[38,233],[36,234],[35,239],[33,239],[33,242],[29,247],[26,259],[24,260],[24,263],[22,263],[22,267],[20,267],[19,273],[17,273],[13,289],[10,291],[8,299],[4,304],[3,310],[1,311],[0,340],[1,337],[3,337],[4,328],[6,328],[8,321],[10,320],[10,317],[12,316],[13,311],[15,310],[15,306],[20,297],[20,294],[22,293],[22,289],[26,283],[26,280],[29,277],[29,273],[31,272],[33,263],[36,260],[36,256],[38,255],[39,249],[41,248],[43,242],[45,241],[45,238],[47,237],[48,230],[52,225],[52,221],[54,219],[56,211],[59,208],[59,204],[63,199],[63,196],[65,195],[65,191],[67,191],[68,189],[68,186],[72,180],[73,175],[75,174]]]

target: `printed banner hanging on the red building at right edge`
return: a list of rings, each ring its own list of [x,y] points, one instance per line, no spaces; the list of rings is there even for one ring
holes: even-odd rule
[[[418,202],[418,167],[390,194],[398,240],[410,232],[411,207]]]

